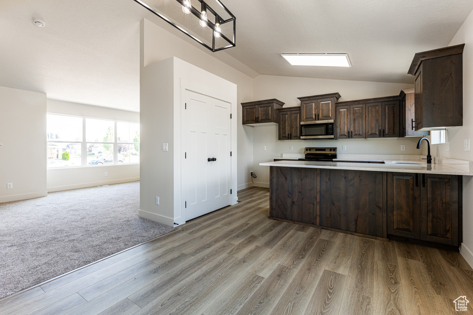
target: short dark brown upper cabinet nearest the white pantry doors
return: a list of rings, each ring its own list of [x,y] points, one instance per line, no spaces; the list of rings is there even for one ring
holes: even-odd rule
[[[283,102],[275,98],[241,103],[243,125],[277,124],[279,119],[277,109],[282,108],[283,105]]]

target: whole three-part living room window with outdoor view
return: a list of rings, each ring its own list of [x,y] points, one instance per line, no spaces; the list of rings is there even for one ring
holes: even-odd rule
[[[139,163],[139,124],[47,115],[48,167]]]

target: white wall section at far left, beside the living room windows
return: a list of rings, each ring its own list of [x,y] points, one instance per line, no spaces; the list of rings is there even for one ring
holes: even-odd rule
[[[47,195],[46,95],[0,87],[0,113],[0,202]]]

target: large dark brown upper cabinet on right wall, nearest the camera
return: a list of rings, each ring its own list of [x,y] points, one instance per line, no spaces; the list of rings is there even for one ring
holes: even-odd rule
[[[407,73],[414,76],[415,130],[463,125],[463,47],[417,53]]]

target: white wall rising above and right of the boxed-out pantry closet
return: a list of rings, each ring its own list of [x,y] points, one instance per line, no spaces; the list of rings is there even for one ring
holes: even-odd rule
[[[141,21],[141,29],[142,67],[177,57],[235,83],[238,104],[254,100],[253,78],[214,57],[224,52],[207,53],[148,20]],[[237,106],[237,110],[237,183],[238,189],[242,189],[251,186],[249,170],[253,167],[253,128],[241,124],[241,106]]]

